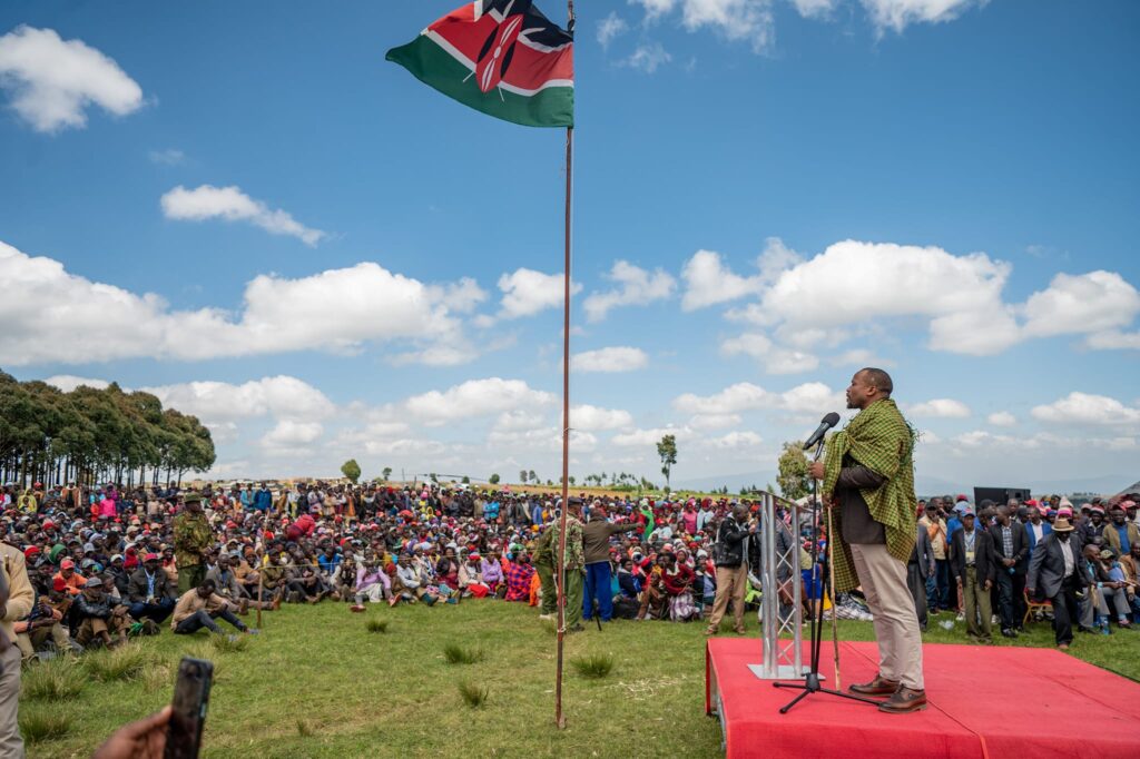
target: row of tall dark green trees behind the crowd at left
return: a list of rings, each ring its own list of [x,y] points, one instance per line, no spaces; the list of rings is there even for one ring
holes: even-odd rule
[[[65,393],[0,372],[0,481],[181,483],[215,459],[210,430],[150,393],[115,383]]]

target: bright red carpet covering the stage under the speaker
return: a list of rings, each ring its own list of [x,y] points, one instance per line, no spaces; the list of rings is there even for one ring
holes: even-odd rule
[[[808,651],[805,643],[805,663]],[[705,708],[719,713],[728,759],[1140,757],[1140,684],[1050,648],[925,645],[922,653],[926,711],[885,715],[816,693],[781,715],[799,691],[748,669],[760,663],[760,642],[711,639]],[[833,655],[824,640],[824,687],[834,687]],[[873,643],[840,643],[839,656],[845,688],[874,677]]]

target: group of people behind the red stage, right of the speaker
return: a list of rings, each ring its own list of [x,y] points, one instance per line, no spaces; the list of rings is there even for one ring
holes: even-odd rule
[[[1016,638],[1039,615],[1052,620],[1060,648],[1074,628],[1110,635],[1140,625],[1138,504],[1137,493],[1080,508],[1059,496],[921,503],[909,579],[920,622],[954,613],[971,639],[990,643],[994,625]]]

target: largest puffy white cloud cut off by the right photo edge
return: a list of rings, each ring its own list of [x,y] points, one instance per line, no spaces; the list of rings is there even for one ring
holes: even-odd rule
[[[1048,289],[1029,296],[1024,312],[1032,337],[1107,332],[1132,324],[1140,293],[1115,271],[1058,274]]]

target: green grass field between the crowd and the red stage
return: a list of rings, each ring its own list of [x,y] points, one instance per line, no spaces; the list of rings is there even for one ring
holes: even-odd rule
[[[58,733],[50,723],[63,721],[66,729],[30,744],[28,756],[88,757],[116,726],[170,701],[186,653],[217,668],[205,757],[723,756],[719,726],[703,711],[700,625],[616,621],[602,632],[591,627],[569,636],[568,660],[610,654],[613,669],[595,679],[568,661],[568,728],[557,731],[555,636],[536,614],[489,601],[438,609],[374,605],[366,614],[350,614],[343,604],[286,606],[267,613],[264,632],[236,651],[219,650],[206,632],[176,637],[164,630],[133,644],[144,652],[138,661],[100,654],[81,660],[71,674],[83,682],[78,694],[56,691],[51,700],[25,692],[22,723],[33,729],[47,723]],[[247,619],[252,623],[252,614]],[[748,627],[758,635],[755,613]],[[840,637],[870,639],[871,626],[840,622]],[[931,623],[926,639],[963,638],[961,623],[950,631]],[[1052,632],[1034,625],[1016,643],[1051,646]],[[472,663],[463,663],[455,646],[473,654],[466,656]],[[1140,679],[1140,632],[1082,635],[1070,653]],[[25,686],[38,675],[25,671]],[[927,672],[927,680],[936,687],[937,674]],[[484,691],[486,701],[467,705],[461,686],[474,686],[466,689],[477,701]]]

